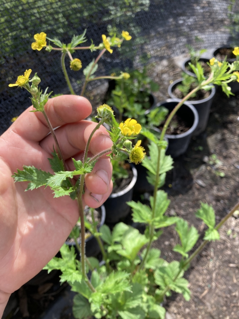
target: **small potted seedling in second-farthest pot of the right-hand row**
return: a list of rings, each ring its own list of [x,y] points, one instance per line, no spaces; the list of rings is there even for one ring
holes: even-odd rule
[[[196,74],[192,70],[190,63],[196,66],[197,62],[199,62],[203,68],[204,75],[208,77],[211,72],[211,68],[207,64],[207,62],[209,62],[209,59],[200,58],[201,54],[204,53],[206,49],[202,49],[199,52],[197,52],[192,48],[192,46],[188,46],[188,48],[189,48],[190,58],[187,58],[186,60],[184,60],[182,65],[182,70],[186,74],[191,75],[194,78],[197,78]]]

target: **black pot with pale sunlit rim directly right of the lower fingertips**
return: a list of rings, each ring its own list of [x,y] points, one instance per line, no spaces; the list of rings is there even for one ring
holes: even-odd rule
[[[137,180],[137,169],[132,165],[133,178],[130,184],[118,193],[111,194],[105,201],[105,223],[118,223],[130,212],[130,207],[126,202],[132,200],[133,188]]]

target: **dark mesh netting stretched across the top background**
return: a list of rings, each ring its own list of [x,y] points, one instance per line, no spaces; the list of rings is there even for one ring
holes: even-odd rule
[[[235,42],[239,4],[230,0],[0,0],[0,133],[11,125],[11,118],[31,105],[29,93],[9,88],[18,75],[31,68],[42,79],[40,86],[53,94],[69,93],[64,80],[60,53],[33,51],[35,33],[45,32],[69,43],[74,34],[87,29],[88,41],[98,45],[102,34],[127,30],[131,41],[113,48],[101,58],[97,75],[115,70],[130,70],[194,48],[216,48]],[[233,23],[232,23],[233,22]],[[230,27],[230,28],[229,28]],[[77,51],[86,67],[98,52]],[[79,93],[83,72],[67,71],[74,90]],[[90,90],[100,81],[89,83]]]

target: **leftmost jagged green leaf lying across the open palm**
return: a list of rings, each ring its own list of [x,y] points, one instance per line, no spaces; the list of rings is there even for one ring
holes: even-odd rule
[[[47,184],[48,178],[53,176],[49,172],[42,171],[34,166],[23,166],[23,170],[18,169],[18,173],[14,173],[15,182],[29,182],[25,191],[35,189]]]

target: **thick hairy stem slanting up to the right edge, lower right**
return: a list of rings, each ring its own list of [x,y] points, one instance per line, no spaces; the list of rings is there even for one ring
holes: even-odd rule
[[[217,226],[215,227],[216,230],[218,230],[227,220],[228,218],[230,218],[233,213],[239,209],[239,203],[237,203],[233,209],[220,221],[219,224],[217,224]],[[173,281],[175,281],[178,276],[180,275],[182,270],[185,270],[185,268],[188,266],[189,263],[191,263],[191,261],[200,253],[200,251],[204,248],[204,246],[206,246],[206,244],[208,243],[208,240],[205,240],[201,243],[201,245],[194,251],[194,253],[185,261],[185,263],[183,263],[183,267],[181,267],[181,269],[178,271],[177,275],[174,277]],[[161,293],[161,295],[159,296],[159,300],[163,300],[164,295],[170,290],[169,286],[166,286],[163,290],[163,292]]]

